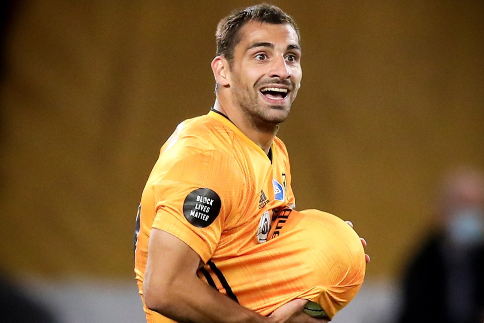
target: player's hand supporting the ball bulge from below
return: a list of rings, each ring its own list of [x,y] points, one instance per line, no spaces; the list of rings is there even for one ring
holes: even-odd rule
[[[296,298],[278,309],[269,316],[273,323],[328,323],[327,318],[315,318],[302,312],[307,299]]]

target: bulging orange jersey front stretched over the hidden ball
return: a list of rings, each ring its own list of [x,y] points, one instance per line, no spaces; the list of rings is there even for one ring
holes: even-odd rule
[[[214,259],[201,273],[210,285],[262,315],[303,298],[333,318],[356,295],[365,270],[361,241],[343,220],[315,209],[283,209],[267,242],[233,258]]]

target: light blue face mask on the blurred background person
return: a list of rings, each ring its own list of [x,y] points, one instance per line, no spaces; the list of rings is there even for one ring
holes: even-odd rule
[[[479,208],[455,210],[448,225],[452,242],[460,246],[475,246],[484,242],[484,213]]]

